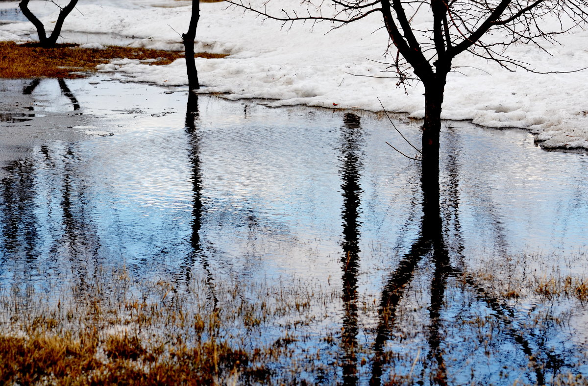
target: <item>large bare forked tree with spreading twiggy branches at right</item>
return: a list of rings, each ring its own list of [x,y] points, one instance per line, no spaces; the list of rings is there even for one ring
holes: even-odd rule
[[[508,56],[505,49],[515,43],[532,43],[544,49],[546,43],[554,42],[555,35],[584,24],[588,17],[587,0],[325,0],[320,5],[305,0],[303,4],[314,11],[307,9],[303,15],[285,10],[272,15],[265,6],[227,1],[283,24],[327,21],[333,28],[380,13],[383,27],[397,49],[392,55],[393,63],[387,63],[388,71],[395,73],[392,77],[398,79],[397,85],[420,80],[425,87],[422,160],[435,168],[439,163],[443,93],[447,73],[457,55],[469,52],[510,71],[534,71],[527,63]],[[330,9],[328,16],[323,15],[326,5]],[[552,18],[556,19],[556,30],[546,31],[547,19]]]

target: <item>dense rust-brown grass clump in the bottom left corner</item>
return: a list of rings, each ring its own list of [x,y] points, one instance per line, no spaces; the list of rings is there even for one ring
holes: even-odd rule
[[[233,350],[227,344],[206,342],[188,348],[183,344],[161,360],[156,348],[147,350],[137,337],[111,337],[106,341],[108,360],[96,351],[100,340],[92,331],[78,337],[39,334],[34,337],[0,336],[2,384],[66,385],[202,385],[216,377],[239,374],[263,381],[268,371],[249,367],[256,354]],[[163,350],[160,348],[160,350]],[[225,376],[226,376],[225,375]]]

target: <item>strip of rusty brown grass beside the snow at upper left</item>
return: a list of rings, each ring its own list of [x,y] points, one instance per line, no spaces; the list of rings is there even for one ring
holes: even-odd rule
[[[224,58],[215,53],[196,53],[199,58]],[[41,48],[32,44],[0,42],[0,78],[79,78],[95,72],[96,65],[112,59],[156,59],[149,64],[166,65],[183,58],[183,52],[161,51],[146,48],[109,46],[106,49],[79,48],[61,45]]]

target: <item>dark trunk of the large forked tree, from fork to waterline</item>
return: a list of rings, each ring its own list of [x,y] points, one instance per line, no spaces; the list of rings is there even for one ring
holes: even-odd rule
[[[441,132],[441,106],[445,92],[446,75],[437,75],[425,83],[425,122],[423,123],[422,153],[425,169],[439,169],[439,134]]]

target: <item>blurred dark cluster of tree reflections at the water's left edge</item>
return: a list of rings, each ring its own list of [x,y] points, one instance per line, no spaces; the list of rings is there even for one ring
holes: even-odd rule
[[[62,149],[41,146],[41,157],[15,161],[6,168],[9,176],[1,181],[0,253],[13,259],[22,256],[34,263],[30,268],[35,270],[41,268],[40,257],[53,268],[59,265],[58,256],[69,259],[78,287],[85,290],[99,241],[86,210],[85,184],[75,175],[79,169],[75,145],[68,145],[63,153]],[[45,221],[45,216],[61,221]]]

